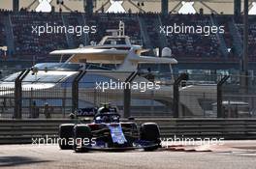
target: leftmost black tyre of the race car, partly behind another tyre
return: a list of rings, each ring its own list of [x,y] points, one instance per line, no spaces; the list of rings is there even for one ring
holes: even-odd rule
[[[59,126],[59,140],[58,145],[61,150],[72,150],[73,145],[69,145],[68,142],[73,138],[74,124],[62,124]]]

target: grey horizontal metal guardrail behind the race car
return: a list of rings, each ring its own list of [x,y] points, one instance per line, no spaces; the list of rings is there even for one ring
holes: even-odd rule
[[[89,123],[86,121],[85,123]],[[157,123],[164,138],[256,139],[256,119],[135,119],[140,124]],[[32,143],[32,138],[57,138],[60,124],[71,120],[0,120],[0,144]]]

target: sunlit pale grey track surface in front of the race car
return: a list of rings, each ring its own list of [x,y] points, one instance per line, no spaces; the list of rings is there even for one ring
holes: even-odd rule
[[[56,145],[1,145],[0,168],[89,168],[89,169],[255,169],[256,149],[246,145],[233,151],[213,152],[130,151],[125,153],[74,153]],[[249,151],[248,151],[249,150]]]

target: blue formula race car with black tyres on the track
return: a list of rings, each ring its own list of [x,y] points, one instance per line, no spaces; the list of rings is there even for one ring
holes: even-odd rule
[[[85,111],[86,110],[86,111]],[[117,109],[104,104],[98,109],[80,109],[76,117],[93,115],[91,124],[63,124],[59,127],[59,147],[61,150],[74,149],[88,151],[126,151],[144,149],[154,151],[161,147],[159,127],[155,123],[144,123],[138,129],[134,122],[119,122]]]

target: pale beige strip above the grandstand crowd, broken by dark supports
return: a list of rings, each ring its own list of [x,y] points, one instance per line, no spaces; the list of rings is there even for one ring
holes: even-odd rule
[[[62,6],[63,12],[71,11],[79,11],[83,12],[83,0],[63,0],[64,6]],[[104,7],[104,11],[106,12],[112,5],[111,1],[114,0],[96,0],[94,12],[102,11],[102,7]],[[20,8],[29,8],[29,10],[35,10],[39,2],[37,0],[19,0]],[[139,11],[144,12],[160,12],[161,11],[161,0],[122,0],[123,8],[128,12],[129,9],[133,13],[137,13]],[[143,3],[144,2],[144,3]],[[185,1],[184,1],[185,2]],[[234,0],[194,0],[186,2],[194,2],[192,5],[196,12],[199,12],[199,9],[204,9],[205,14],[217,13],[217,14],[233,14],[234,12]],[[243,0],[241,0],[243,2]],[[249,0],[250,8],[252,8],[253,0]],[[140,6],[138,6],[138,3]],[[143,3],[143,4],[142,4]],[[3,9],[12,9],[13,3],[12,1],[1,1],[0,7]],[[54,6],[56,11],[59,9],[59,5],[56,4],[56,0],[51,1],[51,6]],[[242,7],[243,5],[241,5]],[[169,11],[172,13],[177,13],[178,10],[182,7],[182,3],[180,0],[169,0]]]

